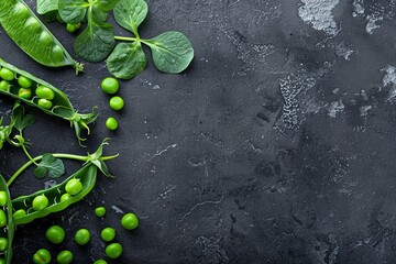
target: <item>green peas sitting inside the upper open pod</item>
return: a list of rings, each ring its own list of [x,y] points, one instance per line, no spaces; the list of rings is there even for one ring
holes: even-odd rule
[[[14,72],[6,67],[2,67],[0,69],[0,90],[10,91],[10,81],[13,80],[15,77],[18,78],[18,85],[20,86],[15,90],[18,97],[25,100],[31,100],[33,98],[33,94],[35,94],[36,98],[38,98],[36,101],[38,107],[46,110],[50,110],[53,107],[52,100],[55,97],[55,92],[51,88],[42,85],[37,85],[37,87],[34,87],[31,79],[22,75],[15,76]]]

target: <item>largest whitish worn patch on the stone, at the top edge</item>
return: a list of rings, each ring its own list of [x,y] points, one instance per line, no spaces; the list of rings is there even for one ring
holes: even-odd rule
[[[315,30],[324,31],[329,35],[337,35],[338,26],[332,10],[339,0],[301,0],[298,15]]]

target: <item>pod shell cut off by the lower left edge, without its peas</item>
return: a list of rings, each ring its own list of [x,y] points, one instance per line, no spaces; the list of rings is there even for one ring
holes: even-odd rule
[[[0,257],[6,258],[6,263],[11,263],[12,258],[12,240],[14,235],[14,222],[12,219],[12,201],[10,191],[7,187],[4,178],[0,175],[0,191],[6,194],[6,206],[1,207],[1,210],[6,212],[7,223],[3,228],[0,229],[0,238],[7,238],[7,249],[3,252],[0,252]]]

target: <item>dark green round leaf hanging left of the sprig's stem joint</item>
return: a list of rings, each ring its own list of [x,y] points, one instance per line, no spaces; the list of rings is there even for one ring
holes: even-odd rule
[[[100,22],[88,13],[87,29],[77,36],[74,44],[77,56],[90,63],[98,63],[109,56],[114,45],[116,41],[112,25]]]

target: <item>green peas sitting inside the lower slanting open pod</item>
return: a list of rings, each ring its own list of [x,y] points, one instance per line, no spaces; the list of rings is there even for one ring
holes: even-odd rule
[[[75,195],[78,195],[81,190],[82,190],[82,184],[79,179],[76,178],[69,179],[65,186],[66,193],[61,196],[61,202],[70,199]],[[32,201],[32,208],[35,211],[42,211],[48,206],[48,204],[50,200],[44,194],[37,195],[36,197],[34,197]],[[14,219],[18,219],[26,216],[26,213],[28,212],[24,209],[19,209],[12,216]]]

